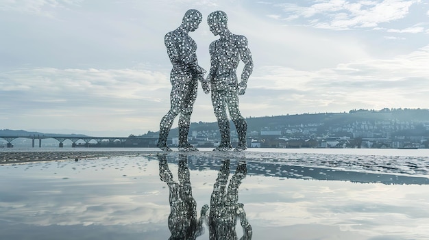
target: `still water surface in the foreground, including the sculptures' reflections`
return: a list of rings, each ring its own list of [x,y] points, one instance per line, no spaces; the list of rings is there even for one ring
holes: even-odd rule
[[[184,232],[197,239],[214,232],[218,239],[429,239],[428,153],[251,149],[0,165],[0,239]]]

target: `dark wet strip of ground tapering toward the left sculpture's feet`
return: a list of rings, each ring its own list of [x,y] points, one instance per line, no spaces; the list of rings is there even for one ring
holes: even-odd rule
[[[0,165],[10,163],[27,163],[34,161],[60,161],[82,159],[99,159],[118,156],[138,156],[156,154],[148,151],[66,151],[66,152],[0,152]]]

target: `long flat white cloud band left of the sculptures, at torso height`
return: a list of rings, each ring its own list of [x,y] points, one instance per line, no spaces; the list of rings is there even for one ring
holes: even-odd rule
[[[21,91],[66,96],[108,96],[109,98],[147,98],[141,92],[165,88],[169,77],[162,72],[142,69],[98,70],[34,68],[1,72],[3,92]]]

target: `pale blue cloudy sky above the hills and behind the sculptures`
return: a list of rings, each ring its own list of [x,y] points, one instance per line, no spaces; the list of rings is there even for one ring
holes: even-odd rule
[[[249,40],[243,116],[429,108],[428,1],[0,0],[0,129],[158,131],[171,90],[164,35],[190,8],[204,15],[190,34],[204,68],[210,12]],[[191,120],[216,120],[201,87]]]

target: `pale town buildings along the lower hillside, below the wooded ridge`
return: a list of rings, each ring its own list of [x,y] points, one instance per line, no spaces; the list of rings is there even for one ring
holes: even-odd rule
[[[342,127],[328,127],[320,133],[323,124],[297,124],[264,128],[247,133],[249,148],[428,148],[429,137],[421,134],[429,131],[428,122],[354,122]],[[404,134],[398,134],[398,133]],[[238,142],[236,131],[231,132],[232,142]],[[177,137],[171,145],[177,146]],[[192,144],[215,147],[219,144],[217,131],[193,131]]]

